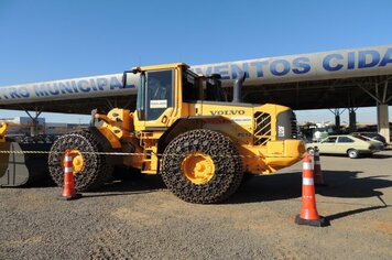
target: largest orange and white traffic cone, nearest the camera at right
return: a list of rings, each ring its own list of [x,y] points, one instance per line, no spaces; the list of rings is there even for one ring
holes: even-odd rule
[[[304,154],[302,171],[302,209],[301,214],[295,217],[295,223],[316,227],[327,226],[326,219],[318,216],[316,208],[316,195],[309,153]]]

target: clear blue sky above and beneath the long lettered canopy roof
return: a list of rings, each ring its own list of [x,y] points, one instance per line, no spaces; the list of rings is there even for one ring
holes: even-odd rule
[[[389,0],[0,0],[0,86],[119,73],[133,65],[391,44],[391,10]],[[43,116],[48,121],[88,120]],[[334,120],[328,110],[297,116]],[[375,109],[359,109],[357,120],[375,122]]]

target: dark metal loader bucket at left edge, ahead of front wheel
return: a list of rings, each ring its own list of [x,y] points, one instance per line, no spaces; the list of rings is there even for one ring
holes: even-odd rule
[[[1,151],[48,151],[51,144],[22,144],[1,142]],[[34,185],[50,180],[47,154],[0,154],[0,186],[17,187],[25,184]]]

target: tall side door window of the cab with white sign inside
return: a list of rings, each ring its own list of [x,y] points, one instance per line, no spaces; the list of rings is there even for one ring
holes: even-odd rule
[[[155,120],[167,108],[173,107],[174,71],[148,72],[145,76],[146,120]]]

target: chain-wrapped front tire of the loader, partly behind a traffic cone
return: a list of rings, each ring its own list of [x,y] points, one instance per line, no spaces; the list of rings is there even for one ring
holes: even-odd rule
[[[90,131],[81,130],[58,138],[52,145],[48,169],[58,186],[64,184],[63,158],[67,149],[80,152],[83,158],[83,165],[74,173],[77,191],[96,189],[111,178],[112,166],[108,163],[107,155],[94,153],[104,152],[102,145]]]

